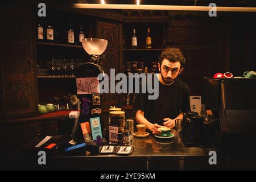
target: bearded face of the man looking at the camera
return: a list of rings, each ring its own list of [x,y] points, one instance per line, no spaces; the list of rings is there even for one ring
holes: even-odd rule
[[[174,63],[167,59],[162,61],[162,65],[158,63],[158,68],[165,84],[171,84],[183,71],[183,68],[180,69],[180,61]]]

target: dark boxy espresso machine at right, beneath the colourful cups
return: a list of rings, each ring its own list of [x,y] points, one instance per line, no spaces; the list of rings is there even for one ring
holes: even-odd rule
[[[215,115],[213,142],[226,154],[255,154],[255,85],[255,78],[203,78],[202,104]]]

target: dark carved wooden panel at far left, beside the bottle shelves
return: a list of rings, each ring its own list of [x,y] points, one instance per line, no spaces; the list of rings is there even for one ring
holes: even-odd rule
[[[37,114],[35,19],[32,10],[1,5],[1,113],[6,118]]]

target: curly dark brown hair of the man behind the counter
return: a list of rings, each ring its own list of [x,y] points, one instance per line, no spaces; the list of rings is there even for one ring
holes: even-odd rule
[[[183,53],[181,50],[177,47],[167,47],[165,48],[161,54],[158,56],[158,61],[160,65],[162,65],[162,61],[164,59],[167,59],[171,62],[177,62],[180,61],[180,68],[183,68],[185,66],[185,57],[183,56]]]

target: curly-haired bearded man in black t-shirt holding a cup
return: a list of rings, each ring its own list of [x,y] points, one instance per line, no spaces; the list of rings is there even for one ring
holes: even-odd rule
[[[154,135],[161,133],[160,126],[174,127],[175,119],[183,119],[183,113],[190,111],[188,86],[177,78],[185,64],[182,52],[179,48],[167,47],[158,61],[158,98],[148,100],[147,93],[140,93],[135,104],[136,121],[146,125]]]

